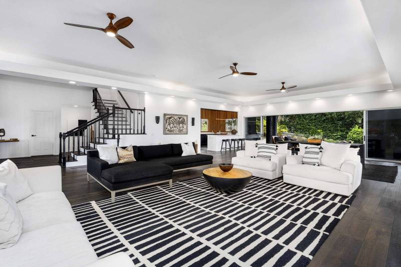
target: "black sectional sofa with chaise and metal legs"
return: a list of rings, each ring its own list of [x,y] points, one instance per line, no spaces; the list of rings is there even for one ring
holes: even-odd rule
[[[136,161],[120,164],[100,159],[97,150],[88,151],[88,181],[92,177],[110,191],[112,202],[116,192],[164,182],[171,187],[173,171],[213,163],[211,155],[181,156],[181,144],[133,146],[133,150]]]

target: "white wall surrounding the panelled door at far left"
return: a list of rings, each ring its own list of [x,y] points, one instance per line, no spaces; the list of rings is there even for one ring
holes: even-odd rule
[[[0,75],[0,128],[6,129],[5,138],[20,139],[20,142],[0,143],[0,158],[30,156],[32,110],[53,111],[53,153],[58,154],[61,107],[90,108],[91,101],[92,92],[88,88]]]

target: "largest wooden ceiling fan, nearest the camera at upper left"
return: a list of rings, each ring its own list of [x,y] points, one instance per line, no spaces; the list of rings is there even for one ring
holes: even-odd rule
[[[125,39],[124,37],[122,37],[121,35],[119,35],[117,33],[119,30],[128,27],[133,22],[133,20],[130,17],[125,17],[125,18],[122,18],[122,19],[116,21],[113,24],[113,20],[116,18],[116,15],[114,15],[113,13],[107,13],[107,17],[110,19],[110,23],[104,29],[98,28],[98,27],[86,26],[86,25],[79,25],[79,24],[71,24],[71,23],[64,23],[64,24],[70,25],[70,26],[75,26],[75,27],[88,28],[88,29],[102,31],[110,37],[117,38],[117,40],[120,41],[121,44],[123,44],[124,46],[126,46],[128,48],[134,48],[134,46],[127,39]]]

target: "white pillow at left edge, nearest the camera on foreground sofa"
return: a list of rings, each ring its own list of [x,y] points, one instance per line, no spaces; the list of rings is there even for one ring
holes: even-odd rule
[[[0,249],[8,248],[20,239],[23,217],[17,203],[7,191],[7,184],[0,183]]]

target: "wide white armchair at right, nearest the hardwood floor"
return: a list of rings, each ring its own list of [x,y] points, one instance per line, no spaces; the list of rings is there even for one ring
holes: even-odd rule
[[[344,161],[340,169],[302,164],[302,155],[287,156],[286,161],[283,166],[285,183],[346,196],[352,194],[360,185],[362,177],[360,159]]]

